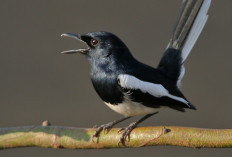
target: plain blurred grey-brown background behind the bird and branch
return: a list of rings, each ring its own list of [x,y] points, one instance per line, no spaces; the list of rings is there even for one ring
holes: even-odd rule
[[[119,36],[140,61],[156,66],[167,46],[181,0],[0,1],[0,127],[92,127],[121,117],[95,93],[84,56],[59,52],[84,45],[64,32],[105,30]],[[212,2],[208,23],[186,61],[182,90],[197,111],[163,110],[142,126],[231,128],[232,1]],[[125,126],[138,117],[119,125]],[[118,127],[119,127],[118,126]],[[219,156],[232,149],[147,147],[111,150],[1,150],[4,157]]]

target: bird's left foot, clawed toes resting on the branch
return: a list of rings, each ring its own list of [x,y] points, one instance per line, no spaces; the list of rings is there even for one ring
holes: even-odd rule
[[[100,135],[101,131],[104,131],[104,133],[107,134],[112,129],[113,126],[114,126],[114,122],[109,122],[103,125],[95,125],[93,128],[95,128],[96,131],[91,137],[92,141],[94,140],[94,137],[98,137]]]

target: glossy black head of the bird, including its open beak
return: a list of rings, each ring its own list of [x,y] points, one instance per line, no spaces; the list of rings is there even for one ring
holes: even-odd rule
[[[61,53],[81,53],[91,59],[111,58],[120,59],[131,56],[127,46],[114,34],[108,32],[91,32],[83,35],[64,33],[62,37],[71,37],[86,44],[85,49],[67,50]]]

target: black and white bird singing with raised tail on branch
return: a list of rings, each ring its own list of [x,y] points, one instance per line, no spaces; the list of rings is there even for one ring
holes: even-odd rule
[[[86,34],[63,33],[86,44],[86,48],[62,51],[80,53],[90,63],[94,89],[103,102],[123,118],[95,126],[92,137],[109,132],[116,124],[134,116],[138,121],[119,130],[119,143],[126,144],[131,131],[162,108],[185,112],[196,107],[182,94],[184,63],[201,34],[211,0],[184,0],[171,38],[157,67],[138,61],[126,44],[113,33],[96,31]]]

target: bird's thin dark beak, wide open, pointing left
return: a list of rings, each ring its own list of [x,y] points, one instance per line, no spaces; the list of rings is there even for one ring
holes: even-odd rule
[[[79,40],[81,42],[84,42],[87,45],[87,43],[85,41],[81,40],[81,37],[78,34],[63,33],[63,34],[61,34],[61,37],[74,38],[74,39],[77,39],[77,40]],[[89,47],[86,48],[86,49],[66,50],[66,51],[62,51],[61,53],[63,53],[63,54],[72,54],[72,53],[78,53],[78,52],[79,53],[86,53],[88,51],[89,51]]]

